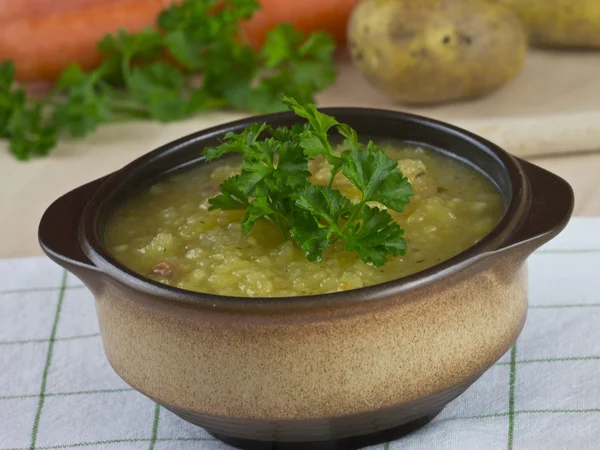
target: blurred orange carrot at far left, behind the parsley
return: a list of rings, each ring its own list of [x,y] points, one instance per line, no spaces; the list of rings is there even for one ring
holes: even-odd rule
[[[13,60],[22,82],[54,80],[73,62],[92,69],[101,61],[96,43],[106,33],[120,28],[139,31],[153,24],[171,3],[122,0],[4,23],[0,26],[0,61]]]

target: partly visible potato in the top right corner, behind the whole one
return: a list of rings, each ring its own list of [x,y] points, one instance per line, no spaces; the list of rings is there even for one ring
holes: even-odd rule
[[[492,0],[523,21],[532,45],[600,48],[600,0]]]

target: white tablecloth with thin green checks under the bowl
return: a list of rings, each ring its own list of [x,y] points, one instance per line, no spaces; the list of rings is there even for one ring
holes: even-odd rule
[[[517,344],[383,449],[600,449],[600,218],[530,258]],[[0,260],[0,450],[226,449],[110,368],[91,294],[46,258]]]

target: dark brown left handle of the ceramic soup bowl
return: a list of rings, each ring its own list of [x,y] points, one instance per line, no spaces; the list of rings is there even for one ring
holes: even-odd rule
[[[54,262],[80,278],[84,272],[97,272],[98,269],[79,245],[79,218],[106,178],[99,178],[60,197],[48,207],[38,228],[42,250]]]

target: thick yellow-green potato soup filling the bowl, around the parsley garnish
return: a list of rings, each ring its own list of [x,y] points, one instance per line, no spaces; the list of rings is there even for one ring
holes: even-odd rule
[[[398,160],[415,194],[402,213],[388,210],[405,230],[407,250],[382,267],[365,264],[340,241],[322,262],[311,262],[270,223],[259,222],[245,235],[244,211],[209,211],[219,184],[241,169],[232,158],[168,176],[126,199],[108,223],[107,247],[125,266],[171,286],[238,297],[298,296],[419,272],[472,246],[499,222],[502,197],[473,168],[426,148],[382,148]],[[311,161],[309,168],[313,183],[326,184],[325,161]],[[359,200],[341,173],[333,187]]]

